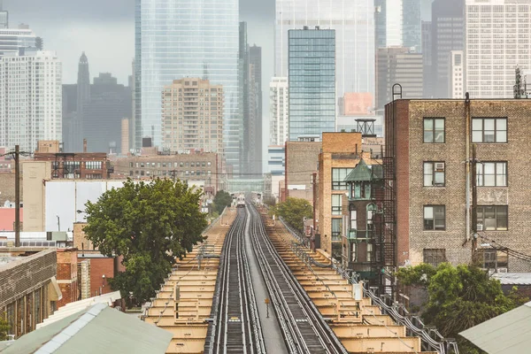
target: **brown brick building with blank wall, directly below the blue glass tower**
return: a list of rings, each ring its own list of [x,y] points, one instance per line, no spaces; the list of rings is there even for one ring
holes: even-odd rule
[[[285,196],[304,198],[313,203],[312,173],[317,171],[317,162],[322,143],[315,142],[286,142],[286,178]]]

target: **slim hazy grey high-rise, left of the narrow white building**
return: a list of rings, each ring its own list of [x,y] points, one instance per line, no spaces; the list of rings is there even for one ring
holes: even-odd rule
[[[249,173],[262,174],[262,48],[249,48]]]

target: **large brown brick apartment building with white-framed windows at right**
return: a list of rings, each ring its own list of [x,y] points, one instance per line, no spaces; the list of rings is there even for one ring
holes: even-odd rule
[[[531,254],[531,100],[397,100],[385,115],[397,266],[474,255],[485,268],[531,271],[495,249]]]

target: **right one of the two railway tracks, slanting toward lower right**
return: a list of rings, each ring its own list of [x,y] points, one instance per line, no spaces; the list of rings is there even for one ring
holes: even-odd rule
[[[258,211],[253,206],[245,209],[250,212],[253,250],[289,352],[347,354],[334,331],[274,249]]]

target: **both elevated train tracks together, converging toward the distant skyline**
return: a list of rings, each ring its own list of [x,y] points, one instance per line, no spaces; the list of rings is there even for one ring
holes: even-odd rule
[[[245,235],[249,239],[245,240]],[[238,208],[227,233],[205,353],[266,352],[244,242],[252,242],[289,353],[347,353],[266,235],[254,207]]]

